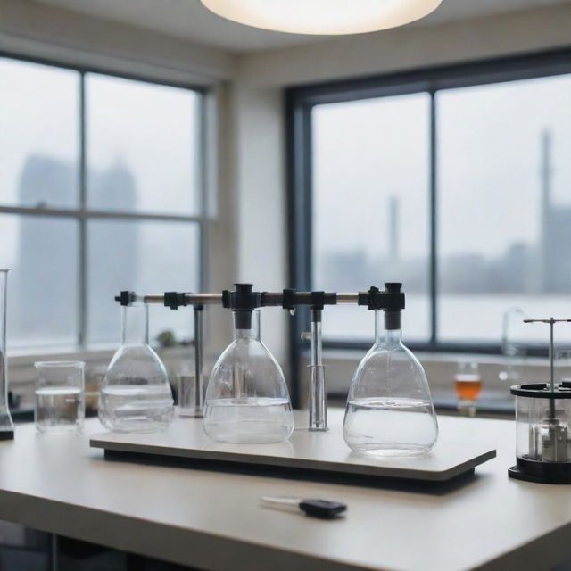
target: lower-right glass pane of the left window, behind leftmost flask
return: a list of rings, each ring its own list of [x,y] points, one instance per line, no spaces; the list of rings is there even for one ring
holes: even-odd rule
[[[88,244],[88,341],[120,340],[121,290],[144,294],[192,292],[199,287],[199,228],[197,224],[152,220],[91,220]],[[192,309],[151,306],[149,337],[163,331],[178,341],[193,336]]]

